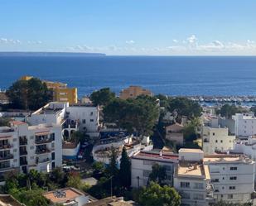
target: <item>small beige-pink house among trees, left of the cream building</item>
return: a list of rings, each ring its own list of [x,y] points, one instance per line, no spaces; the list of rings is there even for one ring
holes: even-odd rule
[[[183,145],[183,125],[175,123],[166,127],[166,139],[176,141],[178,145]]]

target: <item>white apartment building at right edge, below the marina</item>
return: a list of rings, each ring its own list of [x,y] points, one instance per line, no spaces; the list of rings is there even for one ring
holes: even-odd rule
[[[252,113],[236,113],[234,119],[234,134],[237,137],[249,137],[256,135],[256,117]]]

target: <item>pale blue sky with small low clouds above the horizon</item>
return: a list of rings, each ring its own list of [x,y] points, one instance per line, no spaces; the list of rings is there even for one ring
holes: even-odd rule
[[[1,0],[0,51],[256,55],[256,1]]]

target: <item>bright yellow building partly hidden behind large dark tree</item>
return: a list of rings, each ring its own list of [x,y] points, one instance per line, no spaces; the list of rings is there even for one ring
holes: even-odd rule
[[[33,78],[32,76],[22,76],[21,80],[29,80]],[[67,84],[61,82],[51,82],[42,80],[46,83],[48,89],[53,91],[53,101],[56,102],[68,102],[70,104],[77,103],[77,89],[68,88]]]

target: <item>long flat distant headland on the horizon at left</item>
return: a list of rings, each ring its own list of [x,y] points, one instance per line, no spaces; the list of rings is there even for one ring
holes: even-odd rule
[[[73,52],[0,52],[0,56],[104,56],[103,53]]]

